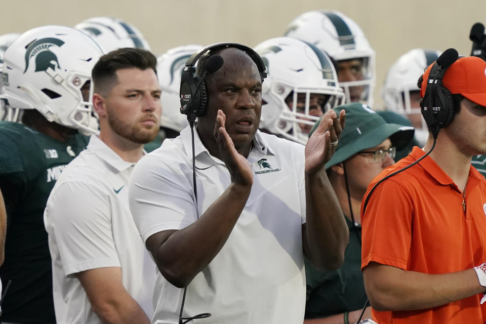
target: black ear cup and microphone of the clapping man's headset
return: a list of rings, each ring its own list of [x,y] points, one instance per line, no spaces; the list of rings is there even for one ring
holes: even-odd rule
[[[190,85],[185,83],[184,87],[181,86],[181,103],[184,105],[181,107],[181,113],[187,114],[187,120],[194,121],[197,116],[201,115],[199,107],[201,104],[206,107],[207,95],[206,87],[201,88],[205,85],[205,78],[208,74],[213,74],[223,66],[224,60],[220,55],[213,55],[208,59],[205,64],[205,70],[203,75],[199,78],[199,83],[194,90],[190,89]],[[193,66],[186,67],[188,69],[194,69]],[[204,89],[204,91],[203,91]],[[193,105],[193,101],[196,100],[197,104]]]

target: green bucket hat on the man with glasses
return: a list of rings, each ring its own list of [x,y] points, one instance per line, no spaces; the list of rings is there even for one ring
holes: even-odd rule
[[[339,138],[338,146],[326,169],[341,163],[359,151],[377,146],[387,138],[400,150],[414,138],[415,130],[410,126],[387,124],[385,119],[365,104],[353,102],[337,106],[334,111],[346,111],[346,125]],[[319,125],[322,117],[316,121],[309,136]]]

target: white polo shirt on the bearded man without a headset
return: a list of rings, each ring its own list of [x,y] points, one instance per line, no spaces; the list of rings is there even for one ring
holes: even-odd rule
[[[128,206],[134,164],[97,136],[63,170],[47,201],[44,224],[52,258],[58,323],[101,323],[73,274],[121,267],[123,286],[151,318],[155,264]]]

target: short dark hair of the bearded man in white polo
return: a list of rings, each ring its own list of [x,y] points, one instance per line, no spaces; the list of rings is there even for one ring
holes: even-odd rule
[[[138,48],[121,48],[101,56],[91,71],[95,93],[106,97],[118,81],[116,71],[133,67],[151,68],[157,75],[157,58]]]

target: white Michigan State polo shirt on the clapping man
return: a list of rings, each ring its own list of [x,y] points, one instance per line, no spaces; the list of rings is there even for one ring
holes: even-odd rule
[[[230,184],[223,162],[195,135],[198,206],[192,182],[189,128],[166,139],[135,167],[130,210],[143,240],[196,221]],[[304,146],[257,132],[248,161],[254,171],[250,197],[226,244],[187,287],[183,316],[209,312],[204,323],[302,323],[305,271]],[[154,323],[177,323],[183,289],[157,274]]]

